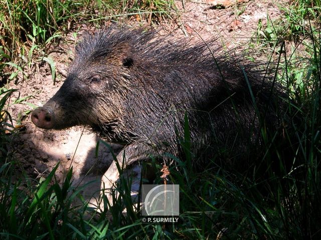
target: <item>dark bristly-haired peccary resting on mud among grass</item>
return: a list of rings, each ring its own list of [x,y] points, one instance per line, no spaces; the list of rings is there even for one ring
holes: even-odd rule
[[[32,121],[45,129],[89,125],[124,145],[120,164],[165,152],[184,159],[187,120],[197,161],[255,156],[260,130],[279,125],[277,84],[215,40],[191,45],[114,27],[86,35],[75,52],[66,81]],[[112,164],[105,177],[117,174]]]

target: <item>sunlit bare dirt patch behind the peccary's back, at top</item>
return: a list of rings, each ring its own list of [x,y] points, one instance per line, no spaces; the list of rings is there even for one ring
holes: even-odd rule
[[[196,38],[196,41],[200,41],[200,38],[216,38],[220,39],[223,46],[234,48],[255,37],[259,21],[265,25],[267,16],[273,20],[281,14],[277,8],[280,2],[273,4],[271,1],[248,1],[229,8],[214,7],[206,2],[213,1],[192,1],[185,4],[184,10],[182,2],[177,2],[179,9],[184,12],[178,25],[171,26],[176,29],[176,35]]]

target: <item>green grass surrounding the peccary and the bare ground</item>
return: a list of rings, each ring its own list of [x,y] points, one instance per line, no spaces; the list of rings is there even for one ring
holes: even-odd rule
[[[37,59],[47,61],[54,75],[54,65],[44,57],[68,25],[128,18],[159,22],[169,17],[172,8],[173,3],[167,1],[2,1],[1,77],[10,81],[21,73],[27,78],[26,69]],[[128,197],[130,184],[125,178],[117,186],[120,196],[114,197],[114,207],[109,211],[107,199],[101,199],[105,207],[98,213],[81,195],[90,183],[72,186],[72,168],[63,183],[55,179],[57,168],[40,179],[17,171],[22,168],[11,156],[11,138],[6,133],[13,129],[6,109],[14,90],[1,88],[0,238],[216,239],[221,235],[219,239],[320,239],[320,2],[296,1],[282,11],[281,19],[258,26],[260,41],[255,41],[262,52],[272,52],[273,61],[279,62],[276,79],[289,93],[283,141],[274,142],[272,132],[262,131],[266,154],[257,163],[277,165],[278,174],[267,171],[264,178],[257,178],[260,172],[256,168],[240,172],[217,165],[196,171],[186,118],[181,141],[186,159],[167,154],[177,163],[170,167],[169,181],[180,185],[180,222],[165,226],[142,223]],[[155,163],[155,167],[156,182],[162,183],[162,166]],[[124,208],[127,216],[122,213]]]

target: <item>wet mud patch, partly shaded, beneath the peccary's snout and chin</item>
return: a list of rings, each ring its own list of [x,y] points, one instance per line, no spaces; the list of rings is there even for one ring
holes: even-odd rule
[[[73,186],[86,185],[82,190],[84,200],[98,197],[101,178],[113,161],[109,149],[99,144],[99,138],[84,130],[73,127],[67,130],[43,130],[26,121],[26,130],[12,135],[13,159],[32,178],[47,176],[60,162],[56,178],[62,183],[70,167],[73,167]],[[111,144],[115,154],[121,146]]]

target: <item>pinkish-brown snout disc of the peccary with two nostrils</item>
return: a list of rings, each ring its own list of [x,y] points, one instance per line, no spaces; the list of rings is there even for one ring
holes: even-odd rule
[[[37,108],[31,114],[31,121],[37,127],[52,129],[54,127],[54,114],[47,108]]]

